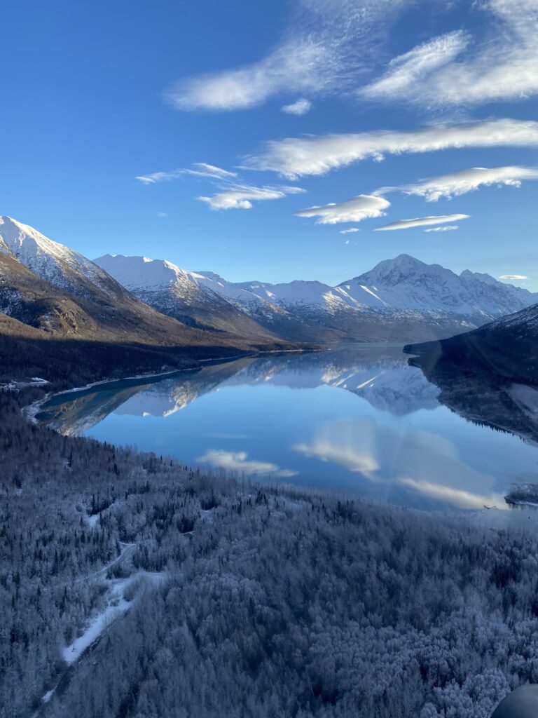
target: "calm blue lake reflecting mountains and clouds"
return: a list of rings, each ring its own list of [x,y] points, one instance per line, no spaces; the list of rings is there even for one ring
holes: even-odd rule
[[[505,508],[538,482],[538,449],[473,424],[399,347],[265,355],[57,395],[37,419],[64,434],[259,480],[416,508]]]

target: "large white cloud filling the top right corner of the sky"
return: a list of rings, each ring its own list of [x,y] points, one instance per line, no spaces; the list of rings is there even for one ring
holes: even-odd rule
[[[485,0],[475,4],[482,37],[449,33],[395,57],[363,97],[412,101],[425,106],[478,105],[519,100],[538,93],[536,0]]]

